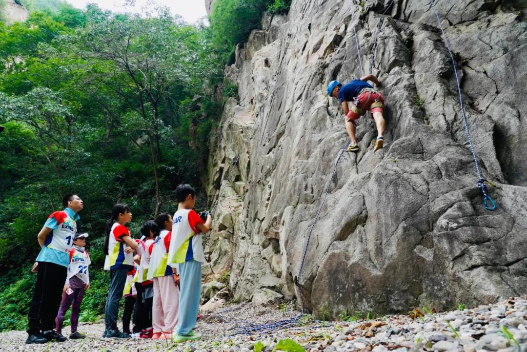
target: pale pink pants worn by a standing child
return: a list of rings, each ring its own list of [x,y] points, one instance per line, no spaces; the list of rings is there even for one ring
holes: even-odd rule
[[[171,334],[178,324],[179,288],[172,276],[154,278],[152,327],[154,333]]]

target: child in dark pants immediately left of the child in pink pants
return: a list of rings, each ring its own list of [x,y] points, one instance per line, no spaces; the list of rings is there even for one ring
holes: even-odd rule
[[[145,221],[141,225],[141,240],[144,242],[145,251],[135,256],[135,262],[139,262],[138,270],[133,279],[135,289],[137,290],[137,299],[135,300],[134,316],[136,324],[134,333],[139,333],[134,337],[151,338],[153,335],[152,327],[152,301],[154,297],[154,283],[147,279],[148,268],[150,266],[149,248],[153,245],[154,239],[159,236],[161,230],[153,220]]]

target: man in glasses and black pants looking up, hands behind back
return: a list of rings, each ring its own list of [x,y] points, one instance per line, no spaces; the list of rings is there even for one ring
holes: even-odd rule
[[[37,279],[27,315],[29,337],[26,344],[66,340],[53,328],[70,263],[70,250],[77,232],[77,212],[82,210],[84,203],[78,195],[66,194],[62,204],[64,210],[52,213],[38,232],[38,245],[42,249],[33,266],[37,270]]]

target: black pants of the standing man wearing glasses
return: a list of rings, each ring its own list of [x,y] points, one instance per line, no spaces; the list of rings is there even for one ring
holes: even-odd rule
[[[66,276],[66,267],[45,261],[38,262],[35,290],[27,315],[28,334],[53,330],[55,327],[55,317],[61,304]]]

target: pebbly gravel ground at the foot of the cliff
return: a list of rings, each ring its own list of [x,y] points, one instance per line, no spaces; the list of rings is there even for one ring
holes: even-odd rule
[[[234,335],[245,322],[262,324],[298,317],[286,305],[270,307],[233,305],[206,315],[198,322],[203,339],[175,345],[170,341],[101,340],[102,324],[82,324],[88,337],[49,345],[25,345],[24,331],[0,334],[0,351],[213,351],[274,350],[281,339],[292,339],[308,352],[344,351],[499,351],[527,352],[527,297],[510,298],[493,305],[435,313],[422,307],[410,315],[392,315],[353,321],[329,322],[303,317],[296,326],[262,334]],[[366,316],[368,318],[368,316]],[[375,317],[375,319],[371,319]],[[238,322],[236,322],[238,321]],[[66,330],[67,331],[67,328]],[[261,346],[260,344],[258,344]],[[292,351],[292,350],[291,350]]]

